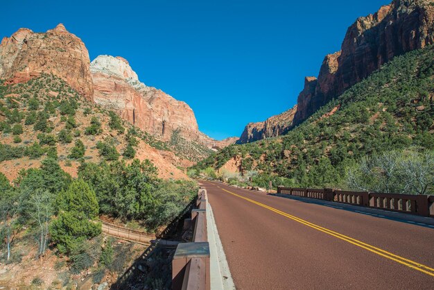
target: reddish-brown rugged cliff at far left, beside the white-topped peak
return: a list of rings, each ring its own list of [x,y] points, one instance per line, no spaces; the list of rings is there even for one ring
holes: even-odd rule
[[[54,74],[92,101],[93,85],[85,44],[62,24],[46,33],[20,28],[0,44],[0,78],[21,83]]]

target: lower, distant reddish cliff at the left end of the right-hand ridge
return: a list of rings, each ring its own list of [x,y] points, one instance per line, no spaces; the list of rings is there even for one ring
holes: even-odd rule
[[[297,105],[286,112],[266,119],[266,121],[248,123],[248,125],[245,126],[240,139],[236,141],[236,144],[254,142],[260,139],[277,137],[287,133],[293,124],[296,111]]]

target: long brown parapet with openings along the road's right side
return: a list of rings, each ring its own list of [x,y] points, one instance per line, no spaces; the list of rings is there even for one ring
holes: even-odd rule
[[[293,187],[277,187],[277,193],[434,217],[434,196],[424,194],[381,194],[371,191]]]

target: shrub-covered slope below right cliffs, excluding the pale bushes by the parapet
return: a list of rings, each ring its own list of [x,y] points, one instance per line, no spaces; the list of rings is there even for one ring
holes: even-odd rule
[[[433,150],[433,78],[433,46],[398,56],[287,135],[229,146],[194,169],[232,168],[259,179],[286,178],[281,184],[322,187],[338,185],[365,155],[410,146]]]

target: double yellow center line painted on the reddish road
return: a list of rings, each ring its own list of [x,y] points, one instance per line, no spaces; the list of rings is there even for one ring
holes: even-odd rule
[[[285,216],[288,219],[292,219],[293,221],[297,221],[298,223],[302,223],[304,225],[307,225],[310,228],[313,228],[315,230],[319,230],[320,232],[324,232],[326,234],[329,234],[333,237],[341,239],[342,241],[347,241],[349,244],[353,244],[354,246],[364,248],[365,250],[369,250],[370,252],[375,253],[376,255],[380,255],[381,257],[385,257],[386,259],[391,259],[394,262],[397,262],[399,264],[403,264],[403,265],[408,266],[410,268],[413,268],[417,271],[425,273],[426,275],[430,275],[430,276],[434,277],[434,268],[430,268],[428,266],[414,262],[410,259],[406,259],[406,258],[401,257],[399,255],[394,255],[393,253],[390,253],[387,250],[382,250],[381,248],[376,248],[370,244],[363,243],[363,241],[359,241],[357,239],[353,239],[351,237],[345,236],[344,234],[340,234],[340,233],[335,232],[333,230],[323,228],[320,225],[315,225],[315,223],[310,223],[309,221],[305,221],[304,219],[300,219],[297,216],[293,216],[293,215],[287,214],[286,212],[282,212],[281,210],[277,210],[274,207],[264,205],[263,203],[259,203],[257,201],[250,199],[250,198],[246,198],[244,196],[241,196],[239,194],[234,194],[234,192],[228,191],[228,190],[223,189],[221,187],[220,187],[220,189],[222,189],[223,191],[226,191],[229,194],[237,196],[239,198],[243,198],[245,201],[249,201],[250,203],[254,203],[255,205],[259,205],[261,207],[265,207],[266,209],[271,210],[272,212],[276,212],[277,214],[280,214],[282,216]]]

